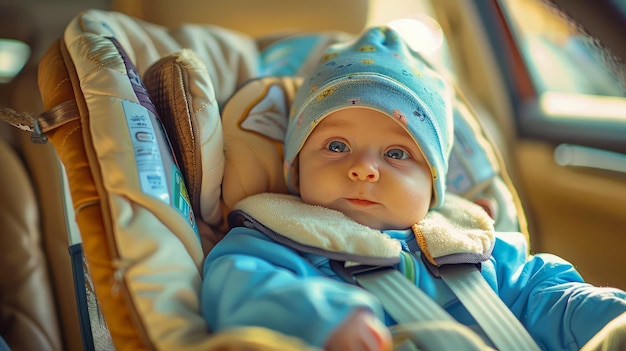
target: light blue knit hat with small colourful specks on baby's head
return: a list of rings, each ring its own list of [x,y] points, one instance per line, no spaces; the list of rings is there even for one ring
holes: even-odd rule
[[[349,107],[383,112],[407,130],[430,166],[431,208],[439,207],[452,146],[451,89],[388,27],[372,28],[353,42],[329,47],[302,83],[285,137],[289,190],[299,193],[297,157],[313,128],[330,113]]]

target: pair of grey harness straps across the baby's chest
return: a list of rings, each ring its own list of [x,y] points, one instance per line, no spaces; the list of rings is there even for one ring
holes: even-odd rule
[[[378,297],[385,311],[398,323],[454,320],[443,307],[392,267],[344,267],[340,261],[331,261],[331,267],[342,278],[356,282]],[[496,348],[500,351],[541,350],[474,265],[434,268]],[[436,337],[435,334],[432,336]],[[443,345],[452,341],[447,339],[449,336],[443,337],[446,337]]]

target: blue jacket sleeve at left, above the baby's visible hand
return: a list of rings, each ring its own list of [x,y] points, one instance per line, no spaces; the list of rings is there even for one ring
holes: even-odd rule
[[[382,316],[363,289],[324,276],[291,248],[235,228],[208,254],[200,308],[213,331],[262,326],[323,346],[357,308]]]

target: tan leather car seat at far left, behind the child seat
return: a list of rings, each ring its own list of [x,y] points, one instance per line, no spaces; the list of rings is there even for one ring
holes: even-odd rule
[[[80,350],[61,168],[51,145],[2,129],[0,334],[15,350]]]

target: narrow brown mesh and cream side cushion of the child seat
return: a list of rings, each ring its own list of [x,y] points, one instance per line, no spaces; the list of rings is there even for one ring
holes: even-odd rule
[[[200,227],[205,252],[222,238],[224,138],[219,106],[204,63],[191,50],[173,53],[146,70],[143,80],[168,134]]]

